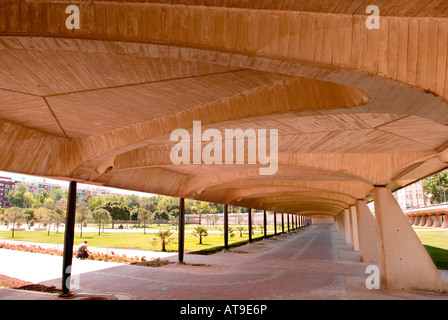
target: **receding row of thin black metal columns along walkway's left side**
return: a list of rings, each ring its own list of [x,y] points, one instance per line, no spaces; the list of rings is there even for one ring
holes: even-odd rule
[[[75,216],[76,216],[76,188],[77,183],[75,181],[70,182],[67,201],[67,216],[64,233],[64,253],[63,253],[63,266],[62,266],[62,295],[70,295],[70,276],[71,266],[73,261],[73,245],[75,237]],[[280,213],[281,217],[281,232],[277,231],[277,212],[274,212],[274,235],[290,232],[300,229],[310,224],[310,218],[301,215],[286,214],[286,226],[285,226],[285,213]],[[264,238],[267,234],[267,217],[266,210],[263,212],[263,224],[264,224]],[[286,227],[286,230],[285,230]],[[249,243],[253,242],[252,239],[252,209],[249,209],[248,214],[248,233]],[[184,261],[184,246],[185,246],[185,199],[179,199],[179,231],[178,231],[178,262]],[[229,215],[228,205],[224,205],[224,248],[229,249]]]

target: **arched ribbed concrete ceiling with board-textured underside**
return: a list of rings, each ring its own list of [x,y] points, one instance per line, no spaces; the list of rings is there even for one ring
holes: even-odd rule
[[[323,216],[444,169],[448,4],[369,4],[3,1],[0,170]],[[277,174],[174,165],[193,121],[277,129]]]

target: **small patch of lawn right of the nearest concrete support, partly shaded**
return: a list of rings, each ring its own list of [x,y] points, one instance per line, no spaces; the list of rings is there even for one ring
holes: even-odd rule
[[[415,228],[415,232],[436,267],[448,269],[448,230],[428,231],[427,228]]]

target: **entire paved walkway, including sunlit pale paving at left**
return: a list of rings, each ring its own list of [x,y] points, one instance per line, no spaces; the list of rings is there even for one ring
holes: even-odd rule
[[[52,269],[45,275],[47,279],[36,280],[60,287],[62,262],[55,260],[60,257],[41,255],[36,259],[29,253],[10,253],[7,264],[24,263],[20,254],[27,255],[32,270]],[[4,255],[0,252],[2,261]],[[177,257],[167,259],[176,262]],[[75,259],[73,272],[79,285],[75,292],[181,300],[448,299],[447,294],[367,289],[365,270],[369,264],[360,263],[359,254],[329,225],[311,226],[213,255],[186,254],[185,264],[152,268],[94,262]],[[12,269],[5,269],[2,263],[0,274]],[[11,276],[23,279],[30,271],[23,268],[20,272],[22,276]],[[8,299],[9,294],[0,290],[0,299]]]

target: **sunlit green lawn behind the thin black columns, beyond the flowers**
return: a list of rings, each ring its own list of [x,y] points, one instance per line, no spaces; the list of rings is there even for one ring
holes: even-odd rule
[[[255,232],[253,238],[262,237],[263,234]],[[113,233],[105,232],[98,235],[97,232],[83,232],[82,238],[79,233],[75,234],[75,245],[81,243],[84,240],[88,241],[90,247],[101,248],[126,248],[126,249],[141,249],[141,250],[161,250],[160,245],[154,245],[151,243],[151,239],[155,238],[154,234],[147,233]],[[166,246],[167,251],[177,251],[177,233],[173,233],[171,236],[173,242]],[[11,231],[0,231],[0,239],[3,240],[19,240],[30,241],[38,243],[50,243],[50,244],[64,244],[63,232],[50,232],[47,235],[46,231],[15,231],[14,238],[11,237]],[[248,235],[243,234],[240,237],[239,234],[234,237],[229,237],[229,244],[232,245],[236,242],[247,241]],[[199,251],[210,250],[218,248],[224,245],[224,237],[222,233],[209,233],[209,235],[202,239],[202,244],[199,244],[199,238],[195,237],[192,233],[185,233],[185,250],[186,251]]]

